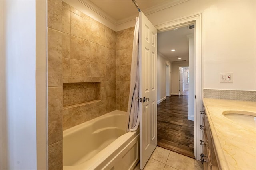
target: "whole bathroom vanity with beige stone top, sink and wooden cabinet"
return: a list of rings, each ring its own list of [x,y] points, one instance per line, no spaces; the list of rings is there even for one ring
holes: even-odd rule
[[[203,98],[204,170],[256,169],[256,102]]]

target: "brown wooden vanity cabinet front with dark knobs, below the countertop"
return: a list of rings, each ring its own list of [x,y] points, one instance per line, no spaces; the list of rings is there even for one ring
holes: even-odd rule
[[[203,107],[204,108],[204,107]],[[216,154],[214,151],[214,141],[212,140],[212,134],[209,126],[208,117],[204,110],[202,114],[203,139],[200,141],[203,147],[203,153],[201,154],[201,162],[204,164],[204,170],[218,170],[218,163]]]

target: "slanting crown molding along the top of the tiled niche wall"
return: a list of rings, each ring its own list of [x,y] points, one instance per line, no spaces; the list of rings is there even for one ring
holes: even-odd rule
[[[93,4],[90,0],[78,0],[78,1],[84,4],[85,6],[87,6],[88,8],[90,8],[91,10],[93,10],[94,12],[96,12],[97,14],[99,14],[100,16],[102,16],[103,18],[105,18],[106,20],[110,21],[114,25],[117,25],[117,20],[115,20],[106,12],[104,12],[102,9],[100,9],[98,6]]]

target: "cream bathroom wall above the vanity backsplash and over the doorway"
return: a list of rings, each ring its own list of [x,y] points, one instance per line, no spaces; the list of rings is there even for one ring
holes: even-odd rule
[[[256,90],[256,1],[187,1],[147,17],[160,25],[198,13],[204,88]],[[233,72],[234,82],[220,83],[220,72]]]

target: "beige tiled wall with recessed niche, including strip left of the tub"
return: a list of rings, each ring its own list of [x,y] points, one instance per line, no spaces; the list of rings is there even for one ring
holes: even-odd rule
[[[62,130],[115,109],[116,32],[65,2],[48,1],[49,169],[62,169]]]

